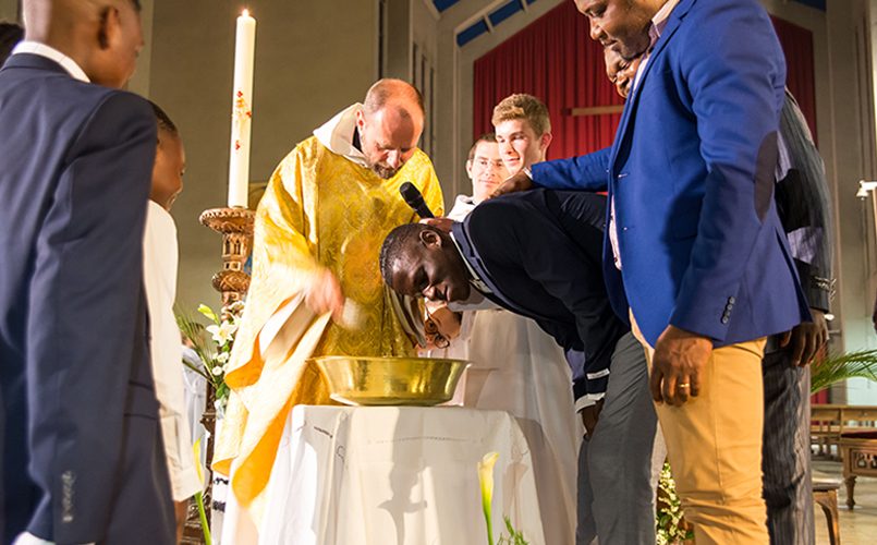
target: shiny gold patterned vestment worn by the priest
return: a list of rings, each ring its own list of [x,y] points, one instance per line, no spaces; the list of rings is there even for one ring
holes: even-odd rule
[[[312,136],[271,175],[256,210],[253,279],[226,375],[232,393],[212,464],[229,475],[234,461],[231,487],[241,505],[249,506],[265,489],[290,409],[330,402],[322,377],[305,359],[415,355],[378,267],[390,230],[418,219],[399,194],[405,181],[421,190],[437,216],[443,214],[433,164],[419,149],[393,178],[383,180]],[[304,307],[301,295],[322,268],[338,278],[344,296],[358,304],[361,328],[344,329],[326,315],[307,314],[299,322],[304,326],[296,326],[290,337],[292,346],[279,354],[269,350],[263,358],[259,332],[266,322],[291,301]]]

